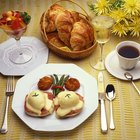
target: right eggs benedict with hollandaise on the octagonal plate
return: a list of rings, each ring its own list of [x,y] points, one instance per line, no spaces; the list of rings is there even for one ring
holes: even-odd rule
[[[62,91],[54,99],[56,116],[68,118],[78,115],[83,107],[83,97],[73,91]]]

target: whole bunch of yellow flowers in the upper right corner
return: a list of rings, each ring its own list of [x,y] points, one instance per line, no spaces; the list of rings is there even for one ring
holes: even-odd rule
[[[93,11],[116,21],[112,33],[120,37],[140,36],[140,0],[96,0]]]

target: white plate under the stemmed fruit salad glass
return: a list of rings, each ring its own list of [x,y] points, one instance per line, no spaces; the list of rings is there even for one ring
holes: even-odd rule
[[[12,63],[8,55],[10,50],[15,47],[15,44],[16,41],[13,38],[0,44],[0,73],[3,75],[25,75],[40,64],[47,62],[49,50],[46,44],[35,37],[22,37],[21,44],[29,46],[29,49],[33,52],[33,58],[21,65]]]

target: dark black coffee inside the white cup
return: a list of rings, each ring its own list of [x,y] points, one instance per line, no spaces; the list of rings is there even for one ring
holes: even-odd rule
[[[140,55],[140,52],[137,48],[132,46],[124,46],[121,47],[118,51],[118,53],[126,58],[136,58]]]

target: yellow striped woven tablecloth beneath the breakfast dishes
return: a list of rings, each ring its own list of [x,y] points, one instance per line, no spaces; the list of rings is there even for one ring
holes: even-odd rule
[[[1,0],[0,13],[3,11],[16,9],[27,11],[31,16],[32,20],[28,26],[25,36],[35,36],[42,40],[40,34],[39,21],[42,13],[53,3],[55,0]],[[89,14],[90,10],[85,0],[75,0],[79,3]],[[65,7],[69,9],[80,10],[75,5],[63,3]],[[0,30],[0,43],[7,40],[8,36]],[[123,40],[133,40],[140,43],[140,38],[118,37],[111,35],[110,41],[104,47],[104,55],[115,49],[117,43]],[[93,60],[97,59],[100,53],[100,48],[82,60],[68,60],[61,58],[49,52],[48,63],[74,63],[85,70],[87,73],[97,79],[98,71],[92,69],[89,65],[90,57]],[[24,124],[12,111],[12,97],[10,98],[9,112],[8,112],[8,133],[0,134],[1,140],[138,140],[140,139],[140,96],[135,91],[133,86],[123,80],[119,80],[113,77],[107,70],[103,71],[105,76],[105,84],[112,83],[116,89],[116,98],[113,101],[113,115],[115,120],[115,130],[108,129],[107,134],[102,134],[100,129],[100,105],[97,110],[80,126],[74,130],[67,132],[37,132],[31,130],[27,125]],[[15,77],[17,81],[20,77]],[[5,106],[5,88],[6,88],[7,77],[0,75],[0,125],[2,124],[4,106]],[[140,89],[140,81],[135,81],[135,84]],[[106,100],[106,112],[109,126],[109,102]],[[43,125],[43,124],[42,124]],[[66,124],[64,124],[66,125]]]

